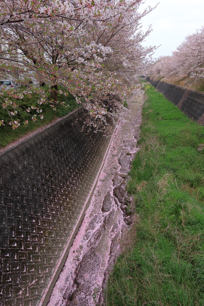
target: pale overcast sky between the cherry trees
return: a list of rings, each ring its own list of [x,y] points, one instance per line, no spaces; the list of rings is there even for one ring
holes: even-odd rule
[[[143,31],[149,24],[153,28],[143,45],[161,45],[155,51],[155,58],[171,55],[185,36],[204,26],[204,0],[146,0],[140,10],[149,5],[155,6],[158,2],[157,8],[141,20]]]

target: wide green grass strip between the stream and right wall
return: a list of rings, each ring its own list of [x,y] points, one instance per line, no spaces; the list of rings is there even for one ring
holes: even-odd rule
[[[203,306],[204,127],[152,86],[146,92],[128,183],[135,224],[109,276],[107,306]]]

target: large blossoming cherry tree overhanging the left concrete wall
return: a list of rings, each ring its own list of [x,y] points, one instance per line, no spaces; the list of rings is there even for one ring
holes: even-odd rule
[[[27,87],[23,92],[4,88],[0,92],[12,128],[20,124],[13,119],[17,112],[32,110],[32,120],[36,120],[43,118],[37,114],[43,103],[56,110],[59,94],[72,95],[83,104],[90,126],[96,130],[107,126],[107,117],[116,115],[122,100],[137,89],[138,76],[154,50],[141,45],[151,29],[143,33],[140,20],[152,10],[139,12],[141,3],[2,0],[0,69]],[[43,88],[33,88],[31,80],[49,84],[50,99]],[[39,95],[38,105],[22,110],[20,99],[34,92]]]

